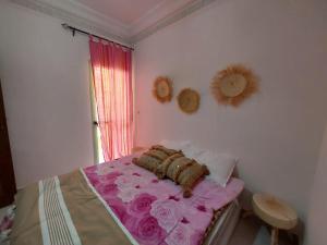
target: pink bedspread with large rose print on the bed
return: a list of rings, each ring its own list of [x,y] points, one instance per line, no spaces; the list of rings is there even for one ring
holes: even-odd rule
[[[239,179],[225,188],[206,179],[191,198],[183,198],[180,186],[159,181],[132,158],[88,167],[84,173],[140,244],[201,244],[213,210],[232,201],[244,186]]]

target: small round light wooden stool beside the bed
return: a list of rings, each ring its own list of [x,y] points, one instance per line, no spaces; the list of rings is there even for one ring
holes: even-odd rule
[[[271,245],[278,245],[278,230],[290,230],[298,223],[296,212],[284,201],[268,194],[255,194],[253,210],[263,221],[272,226]]]

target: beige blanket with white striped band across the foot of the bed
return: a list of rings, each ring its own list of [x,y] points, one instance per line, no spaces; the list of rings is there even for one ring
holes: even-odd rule
[[[12,245],[133,244],[80,171],[19,192]]]

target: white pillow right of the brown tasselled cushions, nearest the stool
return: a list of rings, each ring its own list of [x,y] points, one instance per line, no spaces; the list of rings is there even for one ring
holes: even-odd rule
[[[211,151],[204,151],[195,160],[206,164],[210,171],[208,179],[214,180],[221,186],[226,187],[231,177],[237,159],[227,154],[214,154]]]

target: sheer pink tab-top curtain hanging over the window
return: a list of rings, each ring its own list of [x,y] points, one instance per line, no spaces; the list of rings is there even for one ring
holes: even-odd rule
[[[90,62],[106,161],[133,147],[132,53],[114,44],[89,39]]]

